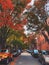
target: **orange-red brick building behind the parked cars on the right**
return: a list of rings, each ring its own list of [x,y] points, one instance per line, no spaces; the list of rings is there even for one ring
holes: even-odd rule
[[[49,50],[49,43],[45,40],[42,34],[37,35],[37,49],[39,50]]]

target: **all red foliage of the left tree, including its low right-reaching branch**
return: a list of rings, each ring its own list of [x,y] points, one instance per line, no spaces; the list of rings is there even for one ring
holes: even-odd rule
[[[27,23],[27,19],[24,19],[21,24],[14,25],[14,22],[12,22],[12,16],[10,15],[10,12],[8,12],[9,9],[14,9],[14,5],[12,4],[11,0],[0,0],[0,4],[2,5],[3,9],[3,12],[0,12],[0,27],[7,25],[14,30],[23,30],[23,25]]]

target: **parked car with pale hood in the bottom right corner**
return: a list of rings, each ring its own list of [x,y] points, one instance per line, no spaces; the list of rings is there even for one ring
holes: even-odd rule
[[[41,53],[39,54],[39,61],[42,65],[49,65],[49,54],[47,53],[47,51],[41,51]]]

